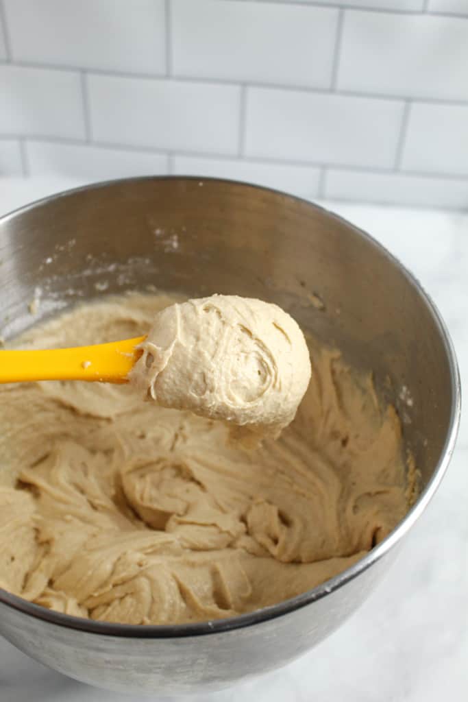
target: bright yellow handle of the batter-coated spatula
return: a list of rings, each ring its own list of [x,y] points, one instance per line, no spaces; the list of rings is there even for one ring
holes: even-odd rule
[[[138,336],[123,341],[69,349],[0,351],[0,383],[32,380],[97,380],[127,383],[127,375],[142,355]]]

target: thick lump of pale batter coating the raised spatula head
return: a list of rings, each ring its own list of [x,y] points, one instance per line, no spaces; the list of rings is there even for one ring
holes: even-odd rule
[[[158,404],[263,437],[293,420],[310,380],[297,322],[277,305],[236,295],[166,307],[142,350],[130,378]]]

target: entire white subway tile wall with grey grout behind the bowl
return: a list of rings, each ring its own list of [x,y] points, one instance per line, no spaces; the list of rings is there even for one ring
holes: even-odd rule
[[[466,209],[468,0],[0,0],[24,171]]]

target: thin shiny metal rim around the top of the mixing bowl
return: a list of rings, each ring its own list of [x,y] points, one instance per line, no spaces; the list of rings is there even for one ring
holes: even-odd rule
[[[295,195],[288,194],[281,190],[276,190],[270,187],[263,187],[261,185],[256,185],[255,183],[245,183],[238,180],[231,180],[228,178],[206,178],[205,176],[136,176],[134,178],[118,178],[115,180],[104,180],[98,183],[91,183],[87,185],[81,185],[79,187],[74,187],[69,190],[63,190],[52,195],[48,195],[36,201],[33,201],[25,206],[16,208],[15,210],[7,213],[0,218],[0,225],[6,221],[20,216],[25,212],[32,210],[34,208],[49,204],[56,199],[62,197],[67,197],[71,194],[76,194],[79,192],[85,192],[87,190],[98,190],[101,187],[109,187],[112,185],[124,185],[126,183],[135,183],[138,181],[147,180],[196,180],[199,183],[215,182],[215,183],[226,183],[227,185],[236,185],[236,187],[246,187],[255,188],[256,190],[263,190],[265,192],[270,192],[274,194],[286,197],[293,202],[304,204],[316,211],[326,214],[328,217],[335,218],[336,220],[344,223],[349,229],[353,230],[356,234],[363,239],[366,239],[371,246],[380,250],[388,260],[389,263],[396,266],[408,282],[417,290],[422,298],[423,303],[425,303],[429,313],[431,314],[434,322],[439,329],[443,345],[446,350],[446,355],[448,358],[448,366],[450,370],[450,393],[451,393],[451,403],[450,403],[450,422],[448,425],[448,432],[446,436],[446,442],[443,446],[441,456],[434,470],[432,478],[429,480],[427,486],[417,498],[417,501],[412,508],[406,513],[405,517],[397,524],[395,529],[377,546],[375,546],[371,551],[369,551],[363,558],[359,559],[351,567],[342,571],[334,578],[321,585],[317,585],[312,590],[307,590],[302,592],[301,595],[292,597],[289,600],[284,600],[278,604],[274,604],[270,607],[263,607],[262,609],[257,609],[248,614],[240,614],[239,616],[229,617],[225,619],[216,619],[213,621],[199,622],[199,623],[187,623],[187,624],[151,624],[151,625],[140,625],[140,624],[114,624],[109,622],[94,621],[92,619],[85,619],[82,617],[72,616],[70,614],[62,614],[61,612],[56,612],[51,609],[46,609],[41,607],[39,604],[34,604],[23,600],[22,597],[17,595],[12,595],[3,588],[0,588],[0,603],[6,604],[8,607],[12,607],[23,614],[27,614],[37,619],[41,619],[51,624],[55,624],[67,629],[79,630],[91,634],[100,634],[104,636],[111,637],[124,637],[133,639],[173,639],[179,637],[192,637],[208,634],[216,634],[227,631],[232,631],[239,628],[244,628],[252,626],[264,621],[272,620],[279,616],[284,616],[289,612],[295,611],[296,609],[301,609],[306,607],[316,600],[321,600],[322,597],[326,597],[331,592],[339,590],[349,581],[354,580],[363,571],[370,568],[375,562],[377,562],[382,556],[384,556],[389,550],[391,550],[396,543],[398,543],[401,538],[413,527],[413,524],[422,515],[425,508],[432,500],[432,497],[439,488],[439,484],[446,473],[448,464],[450,463],[450,458],[455,449],[455,442],[457,439],[457,433],[460,426],[460,413],[461,413],[461,383],[460,383],[460,371],[458,369],[457,357],[455,355],[455,350],[453,347],[453,342],[450,338],[450,333],[448,332],[446,323],[443,321],[439,310],[432,298],[424,290],[417,278],[399,261],[398,258],[392,255],[385,246],[382,246],[376,239],[370,236],[367,232],[364,232],[359,227],[356,227],[352,223],[345,220],[335,213],[321,207],[305,198],[297,197]]]

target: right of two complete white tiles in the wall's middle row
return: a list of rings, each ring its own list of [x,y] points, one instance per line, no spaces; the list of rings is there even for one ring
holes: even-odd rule
[[[246,154],[391,167],[403,102],[248,88]]]

